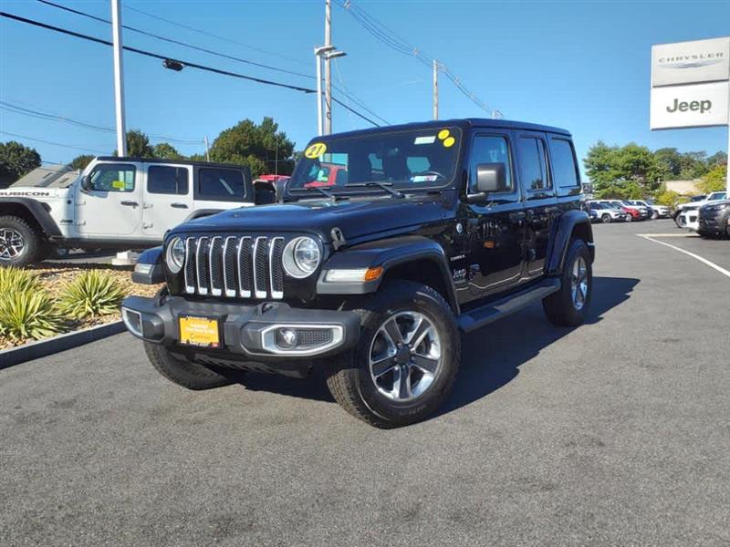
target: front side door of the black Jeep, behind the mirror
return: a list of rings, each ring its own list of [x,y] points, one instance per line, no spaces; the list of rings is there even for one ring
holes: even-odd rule
[[[474,193],[476,166],[503,163],[507,188],[484,203],[467,207],[465,269],[474,298],[504,291],[520,280],[524,265],[525,212],[514,175],[508,133],[475,133],[469,158],[469,189]]]

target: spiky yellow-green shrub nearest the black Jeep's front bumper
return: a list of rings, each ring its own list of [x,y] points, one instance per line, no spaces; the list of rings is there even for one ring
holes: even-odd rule
[[[73,319],[110,315],[119,311],[126,294],[113,275],[91,270],[67,285],[58,299],[58,307]]]

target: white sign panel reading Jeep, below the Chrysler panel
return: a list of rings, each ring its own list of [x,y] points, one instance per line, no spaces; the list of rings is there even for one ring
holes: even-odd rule
[[[725,126],[728,97],[729,82],[652,88],[651,129]]]

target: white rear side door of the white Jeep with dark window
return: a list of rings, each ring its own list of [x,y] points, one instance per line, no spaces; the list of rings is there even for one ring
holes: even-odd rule
[[[193,212],[193,167],[147,163],[144,167],[142,232],[162,240]]]

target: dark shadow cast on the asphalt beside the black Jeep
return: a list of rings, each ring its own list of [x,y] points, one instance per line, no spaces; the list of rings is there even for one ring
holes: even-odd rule
[[[599,323],[606,312],[631,298],[631,291],[637,284],[638,279],[627,277],[594,277],[586,324]],[[506,386],[517,377],[523,363],[574,328],[580,327],[550,324],[542,305],[533,304],[522,312],[465,336],[459,376],[439,415],[465,407]]]

